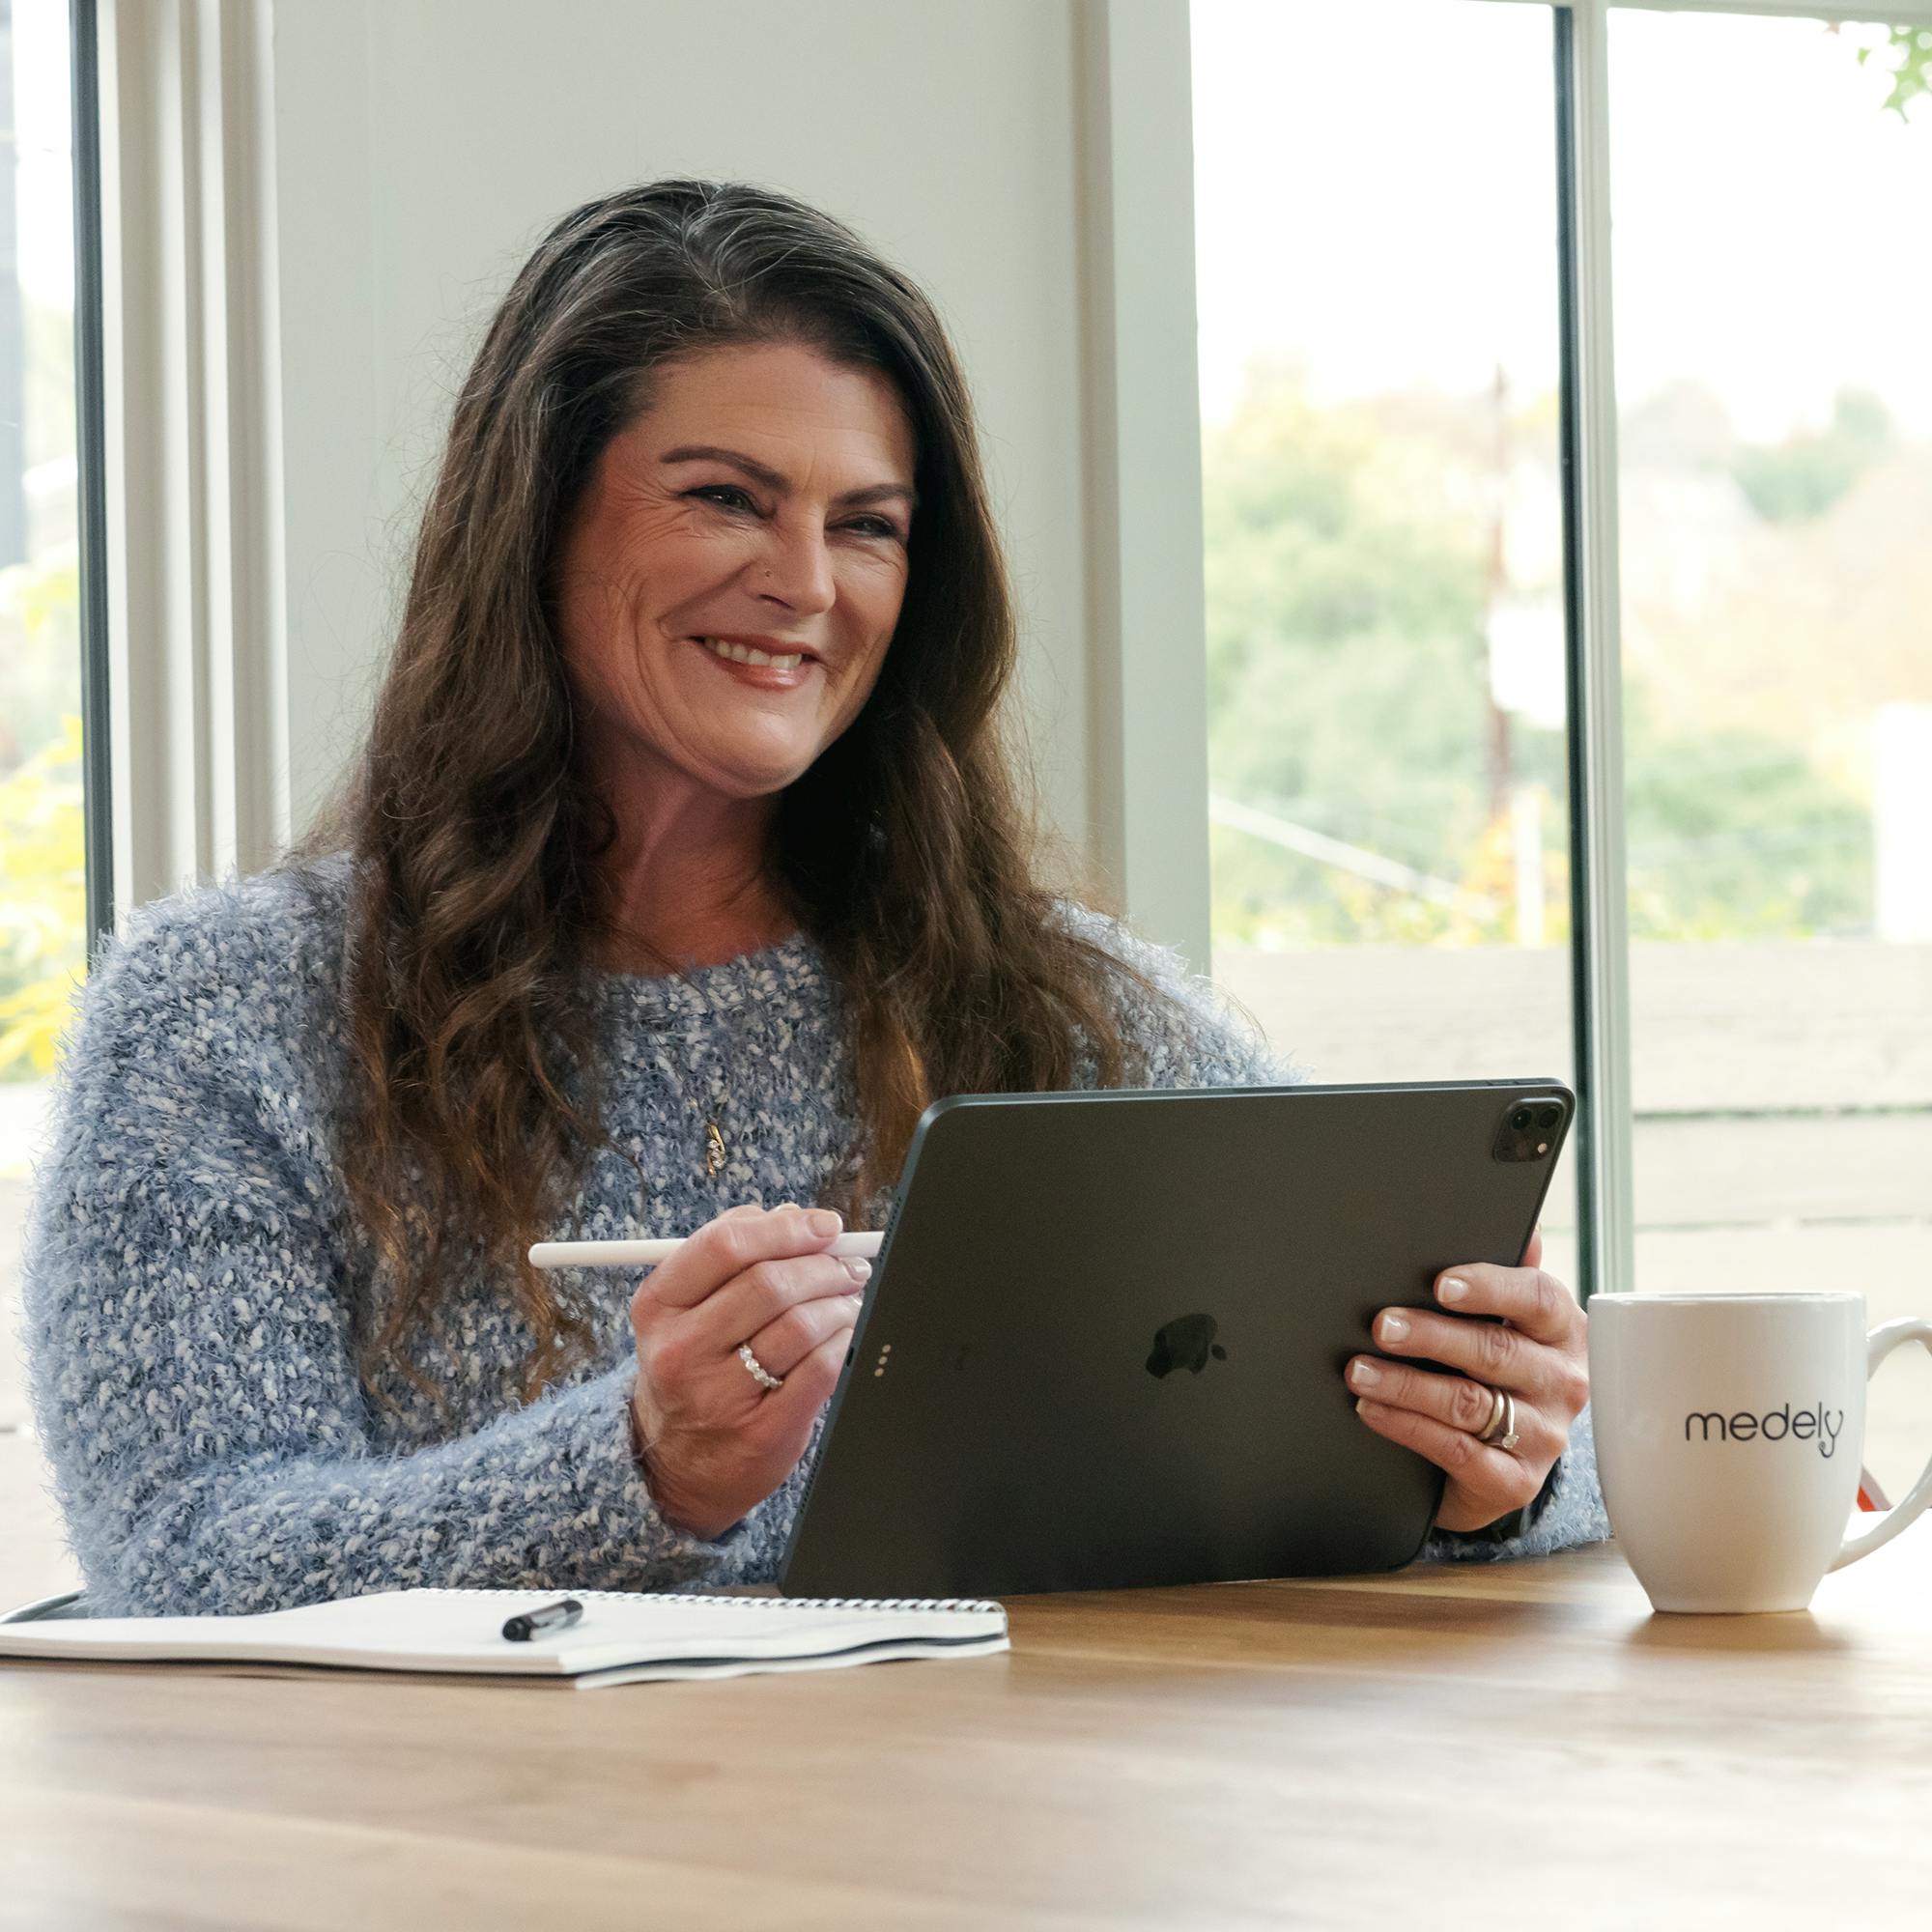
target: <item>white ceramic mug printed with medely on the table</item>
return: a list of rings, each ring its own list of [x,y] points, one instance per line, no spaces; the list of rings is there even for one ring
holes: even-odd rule
[[[1826,1571],[1932,1503],[1932,1463],[1845,1538],[1864,1383],[1932,1321],[1864,1333],[1864,1296],[1592,1294],[1590,1416],[1609,1526],[1656,1609],[1804,1609]]]

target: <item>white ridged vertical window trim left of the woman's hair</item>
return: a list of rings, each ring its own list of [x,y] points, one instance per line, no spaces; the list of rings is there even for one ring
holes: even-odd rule
[[[267,0],[100,6],[116,906],[288,833]]]

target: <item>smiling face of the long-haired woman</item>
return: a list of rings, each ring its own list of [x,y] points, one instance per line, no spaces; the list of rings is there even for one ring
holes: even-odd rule
[[[564,539],[564,661],[593,769],[777,792],[858,717],[906,595],[893,384],[796,344],[657,371]],[[723,647],[723,649],[721,649]],[[773,665],[732,663],[748,649]]]

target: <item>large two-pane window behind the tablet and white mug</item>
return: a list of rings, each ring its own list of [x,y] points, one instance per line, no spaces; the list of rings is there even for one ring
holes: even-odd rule
[[[1932,6],[1897,10],[1194,0],[1217,976],[1321,1078],[1586,1034],[1633,1173],[1580,1242],[1553,1202],[1551,1264],[1874,1323],[1932,1279]],[[1559,290],[1611,323],[1615,439]],[[1590,554],[1565,462],[1615,485]],[[1578,639],[1565,585],[1621,620]],[[1621,883],[1569,864],[1605,823]],[[1895,1360],[1888,1488],[1932,1403]]]

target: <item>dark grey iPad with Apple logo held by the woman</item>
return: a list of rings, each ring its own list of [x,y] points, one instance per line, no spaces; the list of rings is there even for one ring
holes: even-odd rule
[[[925,1109],[792,1596],[1387,1571],[1443,1474],[1341,1370],[1457,1262],[1522,1258],[1557,1080],[968,1094]]]

